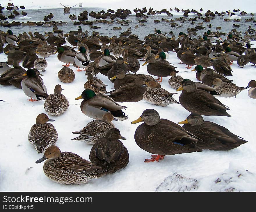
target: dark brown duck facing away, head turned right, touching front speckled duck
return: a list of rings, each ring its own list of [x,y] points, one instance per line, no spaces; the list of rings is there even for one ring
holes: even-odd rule
[[[126,140],[117,128],[112,128],[91,148],[90,161],[105,173],[115,173],[129,163],[128,150],[119,139]]]

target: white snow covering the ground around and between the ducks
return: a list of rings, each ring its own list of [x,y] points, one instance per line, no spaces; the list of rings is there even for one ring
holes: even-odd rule
[[[24,5],[26,6],[26,1]],[[252,48],[256,46],[255,41],[251,44]],[[6,61],[6,59],[7,55],[1,53],[0,61]],[[75,137],[71,132],[81,130],[93,120],[81,112],[82,100],[74,100],[84,90],[83,84],[87,81],[85,72],[77,72],[74,66],[70,66],[76,77],[72,83],[65,84],[58,79],[57,74],[63,63],[57,59],[57,55],[46,58],[46,60],[48,67],[46,72],[42,72],[44,75],[42,78],[48,94],[53,93],[56,84],[61,84],[64,89],[62,94],[70,103],[70,107],[63,115],[49,116],[50,119],[55,120],[51,123],[55,126],[59,136],[56,145],[61,151],[74,152],[89,160],[92,145],[71,140]],[[184,64],[177,64],[179,60],[175,52],[170,53],[168,61],[177,67],[176,70],[179,71],[177,75],[197,81],[195,72],[184,68]],[[143,63],[140,62],[141,65]],[[232,70],[233,76],[228,78],[233,79],[237,86],[246,87],[250,80],[255,79],[256,69],[250,66],[250,63],[244,68],[239,68],[234,62]],[[141,66],[138,73],[148,74],[146,65]],[[104,84],[109,85],[108,91],[112,90],[113,84],[106,76],[101,74],[97,76]],[[164,77],[161,86],[175,93],[175,90],[169,87],[168,79],[169,77]],[[46,113],[43,107],[44,101],[29,102],[23,91],[13,86],[0,86],[0,89],[0,99],[6,100],[6,102],[0,102],[2,117],[0,122],[1,191],[155,191],[156,189],[158,191],[256,191],[254,183],[256,144],[255,132],[252,130],[256,120],[256,106],[255,99],[248,97],[248,90],[239,93],[236,99],[218,97],[223,104],[230,107],[231,110],[228,113],[232,117],[204,116],[204,120],[220,124],[232,133],[248,140],[246,144],[230,151],[204,150],[166,156],[159,163],[143,163],[144,159],[150,158],[151,154],[139,148],[134,141],[134,132],[141,123],[130,124],[130,122],[140,117],[147,108],[157,110],[161,118],[175,123],[186,119],[190,113],[179,104],[160,107],[143,100],[136,103],[122,103],[127,106],[125,113],[129,115],[129,119],[124,122],[113,121],[113,123],[120,130],[121,135],[127,139],[122,142],[129,152],[129,164],[114,174],[91,180],[87,184],[67,186],[57,184],[45,176],[43,162],[35,164],[42,154],[38,154],[27,139],[37,115]],[[174,96],[176,100],[179,99],[181,92],[177,93]]]

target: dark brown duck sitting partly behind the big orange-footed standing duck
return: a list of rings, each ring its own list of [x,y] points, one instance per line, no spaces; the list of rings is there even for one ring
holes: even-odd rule
[[[204,121],[203,117],[198,113],[191,113],[184,121],[178,124],[184,124],[182,128],[204,141],[199,140],[195,143],[195,146],[201,149],[227,151],[248,142],[221,125]]]

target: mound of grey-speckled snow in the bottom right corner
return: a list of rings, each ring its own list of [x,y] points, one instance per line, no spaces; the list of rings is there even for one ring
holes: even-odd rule
[[[156,191],[256,191],[256,175],[230,163],[222,173],[186,177],[175,173],[166,177]]]

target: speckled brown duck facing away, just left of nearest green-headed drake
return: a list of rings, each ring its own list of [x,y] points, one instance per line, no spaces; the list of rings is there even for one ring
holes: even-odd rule
[[[49,115],[59,116],[69,107],[68,100],[63,94],[61,94],[62,90],[61,85],[56,85],[54,93],[50,94],[45,99],[44,108]]]

